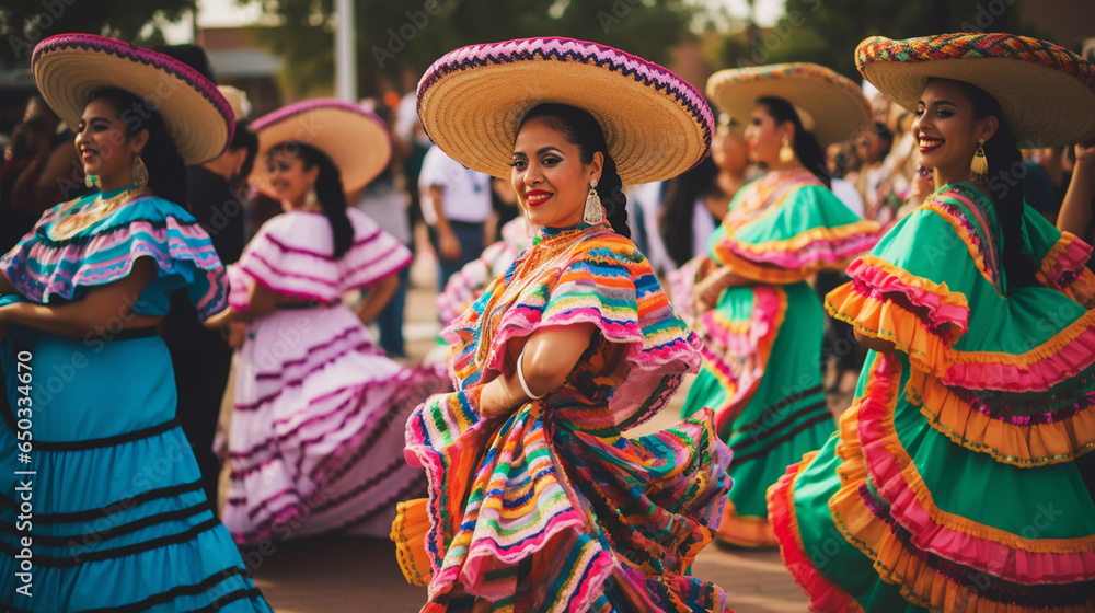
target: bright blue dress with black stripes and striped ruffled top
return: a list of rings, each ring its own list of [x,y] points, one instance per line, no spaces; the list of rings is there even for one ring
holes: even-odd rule
[[[69,225],[95,207],[93,195],[43,215],[0,259],[19,292],[0,305],[79,301],[147,257],[158,274],[132,312],[164,315],[184,288],[201,319],[224,308],[224,269],[191,213],[148,196]],[[123,329],[129,316],[119,303],[83,337],[11,326],[0,344],[11,462],[0,471],[0,610],[268,612],[206,500],[168,347],[152,328]]]

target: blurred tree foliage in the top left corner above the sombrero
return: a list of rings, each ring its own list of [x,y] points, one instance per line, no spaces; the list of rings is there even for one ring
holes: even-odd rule
[[[31,51],[54,34],[102,34],[140,45],[163,43],[161,26],[197,10],[197,0],[15,0],[0,3],[0,62],[30,67]]]

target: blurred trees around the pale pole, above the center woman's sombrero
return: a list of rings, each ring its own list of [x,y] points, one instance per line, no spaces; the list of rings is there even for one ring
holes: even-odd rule
[[[238,0],[250,3],[249,0]],[[260,0],[277,27],[260,43],[286,60],[285,84],[330,93],[334,82],[334,0]],[[475,43],[567,36],[666,61],[689,36],[700,0],[357,0],[359,94],[401,89],[446,53]]]

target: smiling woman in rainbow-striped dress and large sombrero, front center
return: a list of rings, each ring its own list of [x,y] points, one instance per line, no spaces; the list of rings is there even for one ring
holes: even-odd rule
[[[407,424],[430,497],[393,537],[429,581],[423,611],[723,611],[688,575],[729,487],[711,414],[622,433],[695,370],[699,342],[627,239],[621,182],[694,165],[711,109],[659,66],[533,38],[442,57],[418,112],[446,153],[510,177],[541,228],[442,333],[459,392]]]

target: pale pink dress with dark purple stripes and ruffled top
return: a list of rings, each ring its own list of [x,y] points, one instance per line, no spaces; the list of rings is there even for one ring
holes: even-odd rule
[[[372,344],[342,303],[411,262],[411,252],[355,209],[354,244],[338,259],[320,212],[267,221],[229,268],[234,311],[261,284],[281,303],[250,326],[237,354],[224,524],[238,543],[345,532],[387,536],[399,500],[426,479],[403,460],[400,432],[443,368],[405,368]]]

